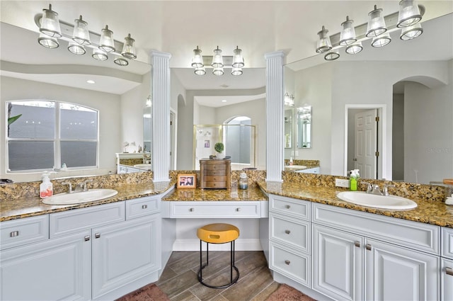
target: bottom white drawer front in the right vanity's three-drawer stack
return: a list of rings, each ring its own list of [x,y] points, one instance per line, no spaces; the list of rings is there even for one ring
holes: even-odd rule
[[[270,243],[270,269],[310,286],[310,256]]]

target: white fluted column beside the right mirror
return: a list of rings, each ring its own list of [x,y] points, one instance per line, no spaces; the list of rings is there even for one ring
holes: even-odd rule
[[[282,181],[283,169],[283,57],[281,51],[266,59],[266,181]]]

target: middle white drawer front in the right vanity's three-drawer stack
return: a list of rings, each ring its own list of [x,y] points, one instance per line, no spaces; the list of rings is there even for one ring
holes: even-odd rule
[[[310,223],[270,214],[270,239],[310,254]]]

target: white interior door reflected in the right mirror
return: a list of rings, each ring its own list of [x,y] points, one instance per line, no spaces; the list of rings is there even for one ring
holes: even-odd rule
[[[354,168],[362,178],[377,178],[377,109],[355,114]]]

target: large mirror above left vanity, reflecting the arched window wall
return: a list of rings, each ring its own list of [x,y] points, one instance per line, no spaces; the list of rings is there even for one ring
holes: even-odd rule
[[[38,44],[38,33],[8,23],[1,22],[0,25],[1,124],[6,123],[5,103],[11,100],[64,101],[99,110],[96,168],[74,170],[68,166],[69,171],[52,177],[115,173],[115,153],[124,151],[124,142],[129,143],[127,152],[137,152],[139,146],[144,147],[145,120],[137,116],[144,115],[145,101],[151,93],[149,64],[130,60],[129,66],[120,67],[113,63],[112,57],[98,62],[88,53],[71,54],[64,41],[58,48],[49,50]],[[94,80],[95,84],[88,84],[88,79]],[[0,147],[6,149],[4,130],[0,137]],[[148,135],[147,143],[151,140]],[[134,146],[132,142],[135,142]],[[4,155],[0,166],[6,166]],[[6,174],[3,168],[1,178],[11,178],[15,182],[38,181],[40,173]]]

